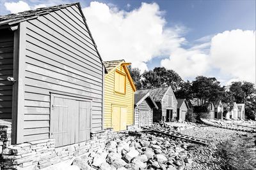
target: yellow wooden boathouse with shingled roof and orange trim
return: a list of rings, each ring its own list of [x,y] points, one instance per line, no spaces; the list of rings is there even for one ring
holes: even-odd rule
[[[123,131],[134,124],[134,92],[136,87],[124,60],[105,61],[104,128]]]

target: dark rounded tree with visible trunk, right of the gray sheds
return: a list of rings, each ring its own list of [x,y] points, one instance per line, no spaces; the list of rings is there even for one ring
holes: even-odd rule
[[[192,97],[197,100],[197,111],[200,113],[207,113],[209,104],[220,101],[224,92],[224,88],[220,86],[216,78],[197,76],[192,81],[191,93]]]

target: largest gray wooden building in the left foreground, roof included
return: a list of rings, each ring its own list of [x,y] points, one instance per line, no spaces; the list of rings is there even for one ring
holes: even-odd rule
[[[12,143],[102,130],[104,66],[79,3],[0,17],[0,119]]]

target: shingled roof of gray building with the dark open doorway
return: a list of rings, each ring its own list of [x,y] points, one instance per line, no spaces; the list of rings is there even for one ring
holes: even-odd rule
[[[156,89],[144,89],[144,90],[140,90],[140,93],[145,94],[145,93],[150,92],[150,96],[153,97],[154,101],[161,101],[169,88],[171,88],[171,87],[159,87]]]

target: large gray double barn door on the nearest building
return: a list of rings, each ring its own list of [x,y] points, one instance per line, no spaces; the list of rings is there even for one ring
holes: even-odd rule
[[[65,146],[90,139],[92,102],[76,97],[51,96],[50,137],[56,146]]]

